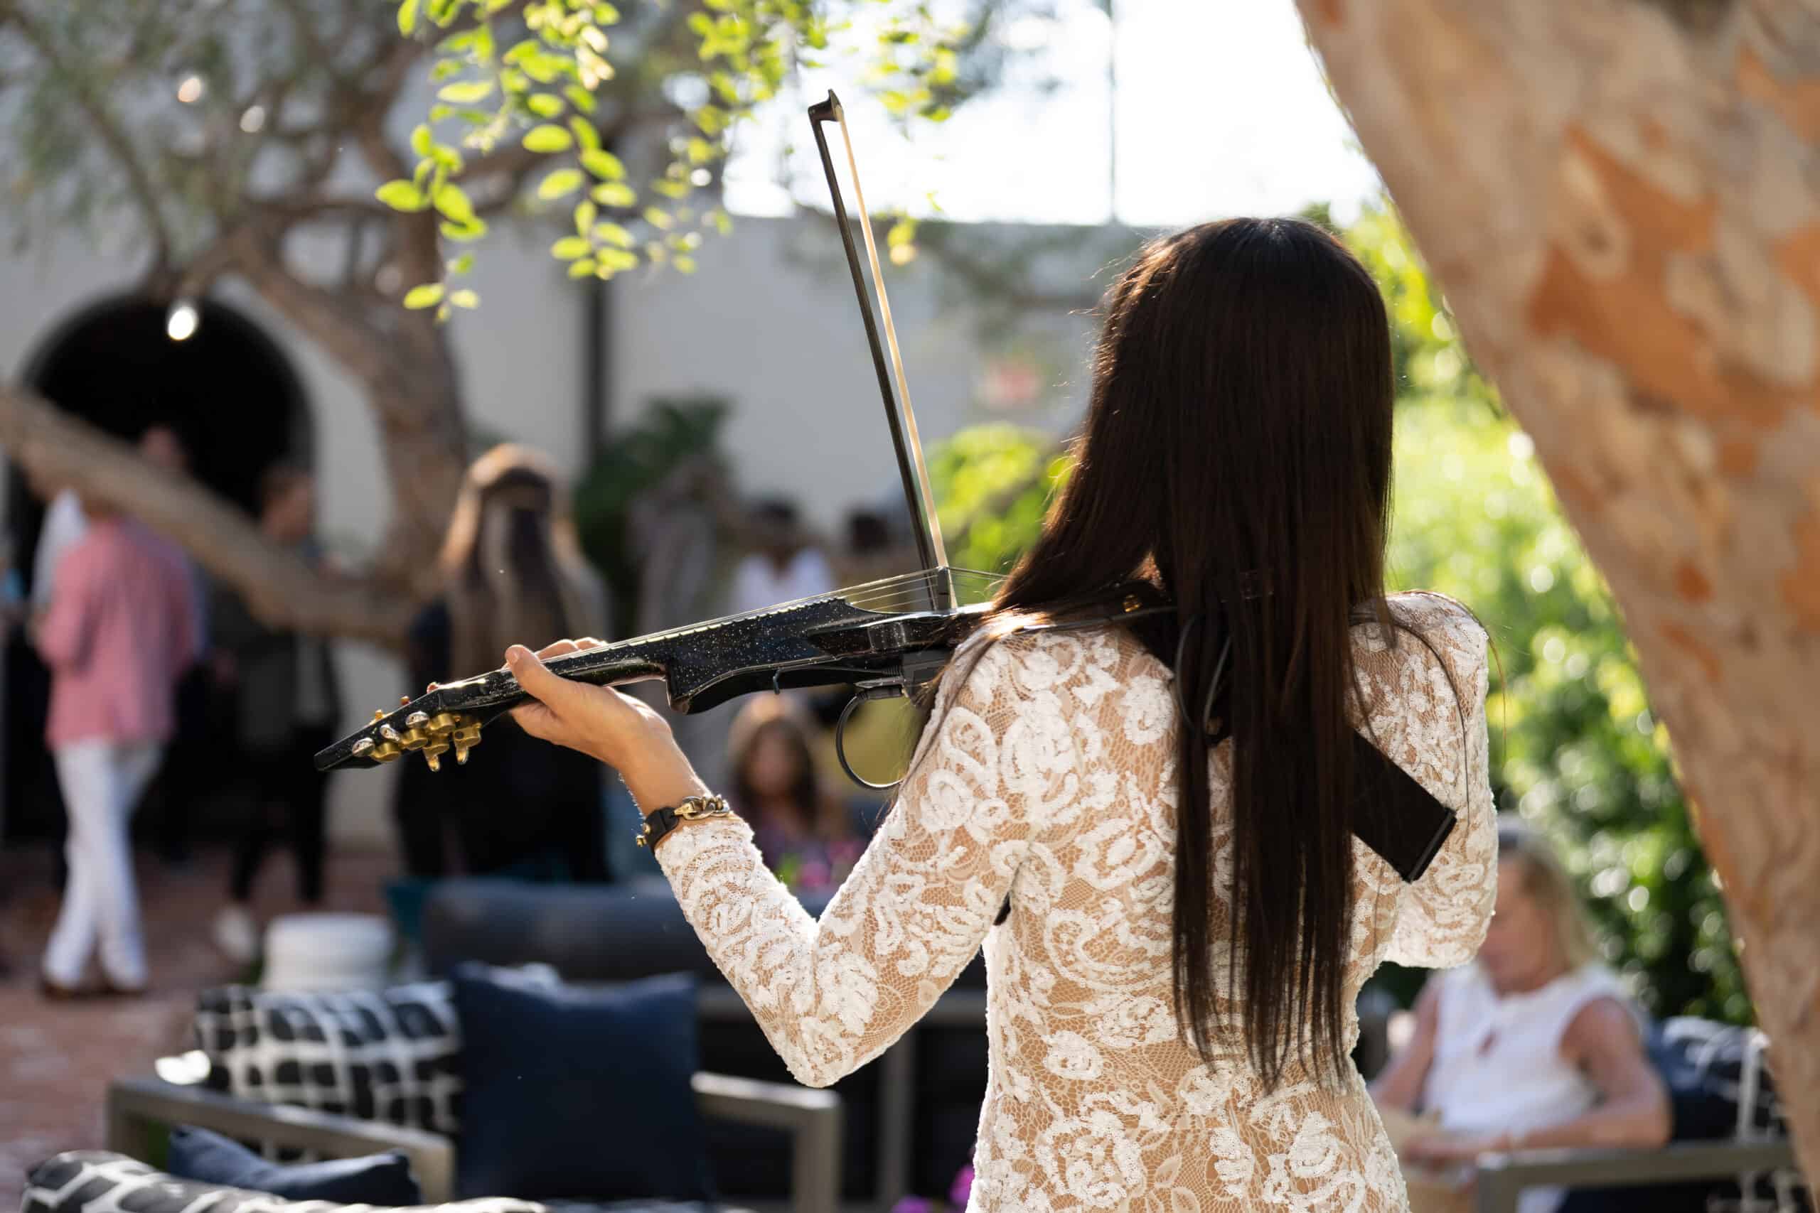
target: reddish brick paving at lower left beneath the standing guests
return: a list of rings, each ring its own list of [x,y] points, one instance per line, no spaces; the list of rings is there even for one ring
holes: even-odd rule
[[[255,913],[264,920],[297,909],[289,857],[277,853],[260,873]],[[382,913],[389,855],[329,858],[328,909]],[[46,1002],[38,995],[38,953],[56,917],[53,862],[46,844],[0,851],[0,1211],[16,1209],[25,1169],[60,1149],[102,1142],[107,1080],[146,1073],[157,1057],[189,1048],[189,1015],[198,989],[242,977],[209,942],[228,887],[226,849],[202,851],[171,869],[136,860],[151,989],[142,998]]]

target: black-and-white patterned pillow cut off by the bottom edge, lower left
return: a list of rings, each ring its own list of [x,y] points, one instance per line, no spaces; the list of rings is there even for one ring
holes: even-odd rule
[[[717,1206],[661,1200],[544,1206],[510,1197],[484,1197],[420,1208],[433,1213],[557,1213],[557,1209],[564,1213],[712,1213]],[[20,1213],[335,1213],[339,1209],[377,1213],[368,1204],[284,1200],[262,1191],[198,1184],[164,1175],[126,1155],[75,1149],[31,1169],[25,1177],[25,1202]]]

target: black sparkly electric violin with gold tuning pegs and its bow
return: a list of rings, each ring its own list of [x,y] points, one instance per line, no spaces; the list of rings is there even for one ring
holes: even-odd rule
[[[910,407],[903,355],[892,326],[892,307],[885,295],[879,251],[866,215],[866,198],[859,189],[859,165],[854,160],[846,116],[834,93],[828,93],[828,100],[810,105],[808,116],[828,176],[834,218],[846,249],[854,293],[859,296],[923,567],[763,611],[568,653],[551,658],[548,667],[564,678],[595,686],[662,680],[670,706],[681,713],[706,711],[757,691],[852,686],[854,698],[835,727],[835,753],[841,755],[846,773],[855,782],[866,784],[841,751],[841,731],[854,707],[872,698],[915,695],[937,678],[954,649],[985,618],[1001,576],[948,566],[915,415]],[[826,124],[841,131],[854,200],[859,206],[857,224],[848,224],[846,218],[834,156],[823,131]],[[868,275],[861,269],[859,249],[854,244],[855,226],[866,247],[870,293]],[[877,320],[874,320],[874,296]],[[1076,618],[1048,627],[1081,627],[1152,615],[1174,615],[1174,607],[1158,602],[1154,591],[1123,598],[1114,615]],[[440,684],[426,695],[406,698],[389,713],[373,713],[366,727],[320,751],[315,764],[318,771],[344,766],[371,767],[420,753],[430,769],[440,769],[442,757],[450,751],[457,762],[466,762],[468,751],[480,742],[480,729],[526,698],[524,687],[504,667],[477,678]],[[1188,718],[1187,709],[1183,717]],[[1452,831],[1454,813],[1369,740],[1358,737],[1356,742],[1354,835],[1405,880],[1416,880]]]

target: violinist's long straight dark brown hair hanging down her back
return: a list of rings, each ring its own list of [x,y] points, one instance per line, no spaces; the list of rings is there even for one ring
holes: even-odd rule
[[[1107,298],[1074,475],[988,624],[1132,582],[1176,604],[1136,631],[1218,720],[1179,729],[1176,1015],[1208,1064],[1241,1038],[1270,1086],[1296,1064],[1338,1077],[1345,1057],[1350,626],[1363,607],[1394,637],[1390,376],[1378,287],[1320,227],[1234,218],[1158,240]],[[1232,884],[1216,889],[1208,753],[1225,735]]]

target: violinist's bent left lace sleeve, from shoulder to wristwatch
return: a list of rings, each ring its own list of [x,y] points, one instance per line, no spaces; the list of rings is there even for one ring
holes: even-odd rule
[[[657,849],[682,913],[799,1082],[828,1086],[883,1053],[979,951],[1077,755],[1054,691],[1026,691],[1028,640],[992,646],[945,687],[897,804],[821,920],[764,867],[737,818]],[[968,655],[957,657],[966,669]]]

